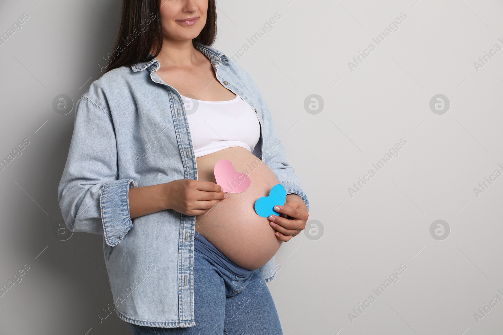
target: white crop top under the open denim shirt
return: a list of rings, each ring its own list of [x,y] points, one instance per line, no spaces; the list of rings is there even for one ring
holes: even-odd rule
[[[204,101],[182,95],[196,158],[230,147],[253,152],[260,123],[239,95],[227,101]]]

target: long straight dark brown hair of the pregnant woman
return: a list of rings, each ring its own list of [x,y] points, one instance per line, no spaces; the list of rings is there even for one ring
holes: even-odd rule
[[[159,8],[160,0],[123,0],[119,33],[113,51],[109,52],[105,73],[121,66],[148,62],[159,54],[163,38]],[[216,33],[215,0],[208,0],[206,25],[195,40],[212,45]]]

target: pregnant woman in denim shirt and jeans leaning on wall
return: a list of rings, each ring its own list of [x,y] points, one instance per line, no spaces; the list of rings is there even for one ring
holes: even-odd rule
[[[106,73],[76,103],[61,211],[103,236],[114,301],[99,317],[134,334],[282,334],[266,283],[309,203],[259,88],[215,35],[214,1],[124,0]],[[221,160],[246,189],[217,184]],[[258,215],[277,184],[280,214]]]

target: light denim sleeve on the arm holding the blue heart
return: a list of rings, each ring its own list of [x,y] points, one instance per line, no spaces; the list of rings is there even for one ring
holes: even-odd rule
[[[264,153],[262,161],[273,171],[278,178],[278,181],[286,190],[286,194],[297,194],[302,198],[309,211],[309,200],[307,199],[306,192],[302,187],[299,177],[295,174],[295,170],[288,163],[285,147],[281,142],[276,127],[274,126],[273,117],[269,110],[259,87],[255,81],[248,74],[248,80],[254,87],[255,93],[258,95],[261,104],[262,114],[262,132],[264,134]]]

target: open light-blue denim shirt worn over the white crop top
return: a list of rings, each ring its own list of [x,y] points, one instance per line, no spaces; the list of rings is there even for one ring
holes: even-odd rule
[[[193,45],[218,81],[255,110],[261,136],[253,154],[309,208],[257,84],[224,53]],[[80,97],[58,199],[69,230],[103,235],[114,302],[100,318],[115,310],[133,324],[190,327],[196,216],[171,209],[129,214],[129,188],[198,178],[184,100],[156,74],[159,67],[154,58],[111,70]],[[260,272],[266,282],[275,278],[274,256]]]

